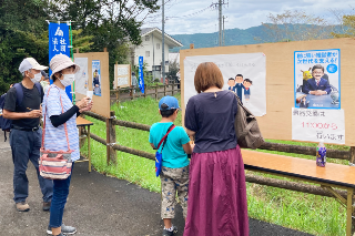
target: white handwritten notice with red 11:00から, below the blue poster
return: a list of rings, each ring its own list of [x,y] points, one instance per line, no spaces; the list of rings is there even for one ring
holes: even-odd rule
[[[292,140],[345,144],[344,110],[292,107]]]

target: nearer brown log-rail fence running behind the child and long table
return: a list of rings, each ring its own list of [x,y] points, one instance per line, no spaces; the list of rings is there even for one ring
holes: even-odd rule
[[[155,160],[155,155],[152,153],[141,151],[141,150],[134,150],[131,147],[126,147],[126,146],[122,146],[122,145],[116,144],[116,136],[115,136],[115,126],[116,125],[130,127],[130,129],[135,129],[135,130],[140,130],[140,131],[146,131],[146,132],[150,131],[150,129],[151,129],[150,125],[116,120],[116,119],[114,119],[114,112],[111,112],[111,119],[106,119],[104,116],[101,116],[101,115],[92,113],[92,112],[84,112],[84,114],[106,123],[106,138],[102,138],[93,133],[90,134],[90,137],[106,146],[106,164],[108,165],[110,165],[110,163],[112,163],[112,164],[116,163],[116,151],[130,153],[132,155],[141,156],[141,157],[149,158],[152,161]],[[87,134],[85,131],[83,131],[83,133]],[[277,144],[277,143],[270,143],[270,142],[266,142],[260,148],[261,150],[278,151],[278,152],[287,152],[287,153],[296,153],[296,154],[305,154],[305,155],[315,155],[315,153],[316,153],[316,147]],[[337,158],[337,160],[348,160],[349,163],[353,163],[353,164],[354,164],[354,160],[355,160],[353,148],[351,151],[327,150],[327,157]],[[255,183],[255,184],[261,184],[261,185],[266,185],[266,186],[272,186],[272,187],[278,187],[278,188],[284,188],[284,189],[290,189],[290,191],[307,193],[307,194],[334,197],[332,193],[325,191],[324,188],[322,188],[320,186],[315,186],[315,185],[276,179],[276,178],[271,178],[271,177],[263,177],[263,176],[253,175],[250,173],[246,173],[245,179],[248,183]],[[343,197],[347,196],[346,191],[336,189],[336,192]]]

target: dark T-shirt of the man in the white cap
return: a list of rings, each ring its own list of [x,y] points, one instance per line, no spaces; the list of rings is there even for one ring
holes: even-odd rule
[[[22,83],[20,83],[23,90],[23,99],[21,104],[16,104],[17,100],[17,91],[14,86],[12,86],[8,93],[4,101],[3,109],[8,110],[10,112],[31,112],[32,110],[40,110],[40,105],[43,101],[43,89],[41,86],[41,93],[39,93],[36,85],[33,85],[32,90],[26,89]],[[19,126],[19,127],[37,127],[40,124],[40,119],[20,119],[20,120],[13,120],[12,125]]]

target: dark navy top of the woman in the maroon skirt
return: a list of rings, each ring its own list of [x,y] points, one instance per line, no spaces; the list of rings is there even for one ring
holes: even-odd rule
[[[236,110],[237,101],[230,91],[192,96],[185,110],[185,127],[196,132],[193,152],[209,153],[235,148]]]

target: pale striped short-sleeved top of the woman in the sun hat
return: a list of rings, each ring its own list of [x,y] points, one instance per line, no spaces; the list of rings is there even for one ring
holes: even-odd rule
[[[48,94],[48,98],[47,98],[47,94]],[[65,93],[65,90],[62,90],[54,84],[50,85],[50,90],[47,91],[43,99],[43,105],[42,105],[43,114],[45,113],[44,148],[50,151],[68,150],[64,124],[59,125],[58,127],[54,127],[50,120],[52,115],[62,114],[60,98],[62,100],[64,112],[67,112],[73,106],[73,104],[71,103],[70,99]],[[67,130],[68,130],[70,150],[74,151],[71,154],[71,160],[72,162],[75,162],[80,158],[77,114],[74,114],[71,119],[67,121]]]

